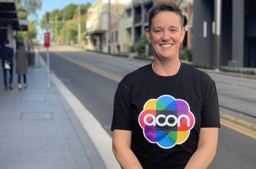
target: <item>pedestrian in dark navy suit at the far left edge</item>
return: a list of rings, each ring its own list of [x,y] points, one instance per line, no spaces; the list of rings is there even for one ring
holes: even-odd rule
[[[8,90],[8,87],[7,87],[7,69],[9,69],[9,72],[10,72],[9,89],[12,90],[13,49],[9,47],[9,40],[8,39],[5,39],[3,44],[5,45],[5,47],[0,49],[0,57],[2,59],[3,78],[4,78],[4,83],[5,83],[5,90]]]

